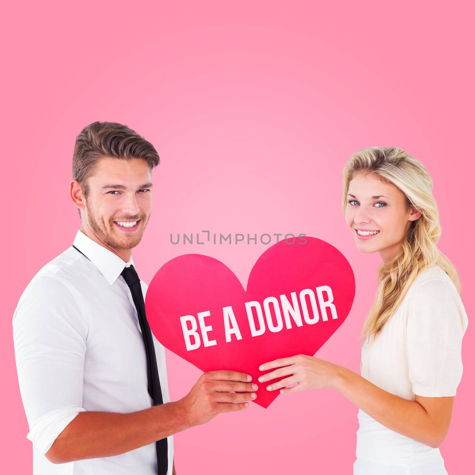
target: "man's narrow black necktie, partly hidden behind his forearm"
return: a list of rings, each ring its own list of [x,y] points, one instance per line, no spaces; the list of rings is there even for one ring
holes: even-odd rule
[[[145,315],[145,303],[143,301],[142,286],[137,271],[131,265],[124,267],[121,272],[123,280],[129,286],[132,294],[133,303],[137,309],[137,316],[139,318],[140,329],[142,331],[143,342],[145,344],[145,353],[147,356],[147,371],[148,371],[148,392],[153,399],[153,405],[158,406],[163,404],[161,396],[160,378],[158,376],[157,359],[155,357],[155,348],[153,346],[152,331],[147,322]],[[157,440],[157,462],[158,475],[166,475],[168,470],[168,444],[167,438]]]

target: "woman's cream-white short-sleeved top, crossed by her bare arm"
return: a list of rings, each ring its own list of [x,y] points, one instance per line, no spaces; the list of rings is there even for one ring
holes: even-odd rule
[[[441,267],[431,266],[418,275],[376,339],[366,339],[361,376],[404,399],[455,396],[467,325],[456,286]],[[410,468],[441,457],[438,448],[386,428],[361,409],[358,419],[358,459]]]

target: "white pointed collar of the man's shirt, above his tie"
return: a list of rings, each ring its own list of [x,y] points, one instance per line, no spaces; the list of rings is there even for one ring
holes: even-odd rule
[[[125,266],[132,264],[135,267],[132,256],[129,262],[124,263],[119,256],[87,237],[80,229],[73,244],[101,271],[109,285],[114,284]]]

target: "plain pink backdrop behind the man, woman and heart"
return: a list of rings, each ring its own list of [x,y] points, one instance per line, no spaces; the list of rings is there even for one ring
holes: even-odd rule
[[[439,247],[460,273],[471,318],[473,12],[457,1],[363,3],[4,7],[4,473],[27,474],[32,466],[12,314],[30,279],[71,245],[79,228],[68,198],[71,157],[77,133],[95,120],[132,127],[161,156],[152,218],[133,252],[144,281],[172,257],[198,252],[220,259],[246,285],[266,249],[173,246],[170,233],[319,237],[350,261],[356,297],[317,356],[358,372],[359,334],[380,257],[359,253],[346,227],[342,168],[363,147],[398,145],[434,180]],[[472,452],[472,334],[469,325],[464,375],[441,446],[452,474],[463,472]],[[170,352],[167,365],[171,398],[179,399],[199,370]],[[327,389],[220,415],[175,436],[177,473],[352,473],[357,412]]]

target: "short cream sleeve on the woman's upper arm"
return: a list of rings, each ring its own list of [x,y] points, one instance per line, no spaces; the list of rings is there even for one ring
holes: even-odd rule
[[[412,392],[455,396],[462,379],[462,337],[467,315],[456,288],[443,279],[415,289],[407,320],[407,352]]]

